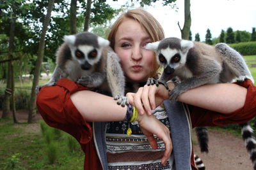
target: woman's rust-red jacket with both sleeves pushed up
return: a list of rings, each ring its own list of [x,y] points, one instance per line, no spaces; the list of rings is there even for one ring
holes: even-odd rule
[[[246,80],[239,84],[247,89],[243,108],[232,114],[221,114],[193,106],[191,122],[193,127],[214,126],[232,123],[244,123],[256,116],[256,87],[252,81]],[[86,157],[84,169],[102,169],[100,160],[93,145],[92,126],[86,122],[70,99],[70,95],[85,87],[66,78],[57,82],[56,86],[43,87],[36,98],[36,105],[45,122],[51,127],[61,129],[74,136],[80,143]],[[193,154],[191,166],[195,168]]]

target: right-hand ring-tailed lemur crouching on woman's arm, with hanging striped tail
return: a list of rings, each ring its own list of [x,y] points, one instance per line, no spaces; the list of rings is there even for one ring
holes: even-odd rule
[[[180,79],[180,83],[175,83],[170,92],[171,101],[175,101],[183,92],[206,83],[227,83],[234,78],[238,78],[237,81],[249,78],[254,83],[243,57],[225,43],[211,46],[179,38],[165,38],[148,43],[145,48],[156,52],[157,62],[164,68],[158,80],[148,78],[148,85],[164,84],[176,76]],[[256,169],[256,141],[253,138],[253,130],[248,123],[240,125],[246,148]],[[208,152],[207,129],[196,128],[196,132],[200,133],[198,139],[201,152]]]

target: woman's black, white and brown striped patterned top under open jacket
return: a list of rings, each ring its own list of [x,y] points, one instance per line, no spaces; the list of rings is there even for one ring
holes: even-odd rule
[[[153,114],[170,129],[168,115],[162,106],[157,107]],[[132,129],[131,136],[126,134],[129,126]],[[156,139],[158,148],[154,150],[141,132],[138,122],[108,122],[106,130],[108,169],[172,169],[173,156],[166,166],[161,164],[164,143]]]

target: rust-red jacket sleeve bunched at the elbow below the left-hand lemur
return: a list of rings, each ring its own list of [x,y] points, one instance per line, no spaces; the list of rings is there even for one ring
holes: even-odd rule
[[[81,144],[92,139],[92,127],[86,122],[72,103],[70,95],[85,87],[62,78],[56,86],[42,87],[36,97],[36,106],[51,127],[61,129],[74,136]]]

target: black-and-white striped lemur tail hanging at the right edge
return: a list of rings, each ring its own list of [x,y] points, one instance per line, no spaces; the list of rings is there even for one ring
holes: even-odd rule
[[[256,170],[256,140],[253,137],[253,129],[248,123],[240,124],[240,126],[246,149],[252,160],[253,169]]]

